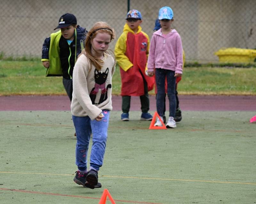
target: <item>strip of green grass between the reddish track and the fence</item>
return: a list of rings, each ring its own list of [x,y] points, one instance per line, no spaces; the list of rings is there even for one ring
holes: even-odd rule
[[[255,67],[185,67],[178,84],[180,94],[256,95]],[[62,77],[45,77],[40,61],[0,61],[0,95],[66,95]],[[116,66],[112,94],[120,95]],[[154,90],[149,94],[154,94]]]

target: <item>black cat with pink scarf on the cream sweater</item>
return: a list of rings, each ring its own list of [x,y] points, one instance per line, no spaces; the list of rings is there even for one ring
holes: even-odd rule
[[[102,71],[99,72],[97,69],[95,69],[95,71],[94,71],[95,85],[92,88],[91,93],[90,93],[90,98],[92,100],[92,104],[100,104],[103,101],[107,100],[108,88],[112,87],[111,84],[108,84],[107,87],[105,87],[107,78],[108,78],[108,68],[106,69],[105,72],[102,72]],[[101,89],[100,100],[98,103],[95,103],[96,95],[100,89]]]

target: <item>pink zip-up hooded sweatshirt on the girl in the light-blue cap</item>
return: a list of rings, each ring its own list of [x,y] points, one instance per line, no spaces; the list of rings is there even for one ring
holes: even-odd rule
[[[164,37],[162,28],[153,33],[148,56],[148,72],[154,68],[169,69],[182,74],[183,49],[179,33],[172,29]]]

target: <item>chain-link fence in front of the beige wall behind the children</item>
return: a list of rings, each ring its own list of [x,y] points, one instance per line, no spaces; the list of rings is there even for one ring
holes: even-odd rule
[[[1,0],[1,55],[40,57],[44,39],[67,12],[87,30],[107,22],[118,38],[128,3],[141,12],[142,30],[150,38],[159,8],[170,6],[187,61],[217,61],[214,52],[222,47],[256,48],[255,0]]]

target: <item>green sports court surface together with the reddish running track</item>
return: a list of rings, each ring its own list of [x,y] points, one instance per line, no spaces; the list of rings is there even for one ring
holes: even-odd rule
[[[150,102],[154,114],[154,96]],[[255,103],[255,96],[180,95],[177,128],[151,130],[139,120],[138,98],[122,122],[114,96],[102,188],[92,190],[73,182],[68,97],[0,97],[0,203],[97,204],[104,189],[120,204],[256,203]]]

